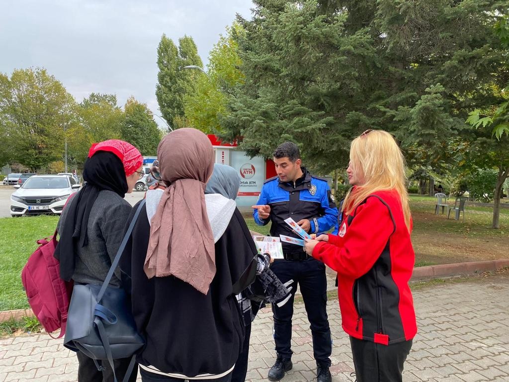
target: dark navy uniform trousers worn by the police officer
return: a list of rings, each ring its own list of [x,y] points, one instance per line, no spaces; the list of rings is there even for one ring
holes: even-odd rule
[[[332,343],[327,318],[325,264],[312,257],[307,257],[305,260],[277,259],[271,264],[270,269],[281,282],[294,281],[291,285],[290,300],[282,307],[272,304],[277,357],[292,358],[290,342],[292,339],[293,302],[298,283],[313,336],[315,360],[318,364],[329,367]]]

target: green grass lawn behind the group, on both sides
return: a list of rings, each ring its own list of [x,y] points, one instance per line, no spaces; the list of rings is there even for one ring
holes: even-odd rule
[[[413,240],[416,249],[416,266],[433,265],[441,262],[461,261],[451,258],[451,261],[436,259],[432,254],[435,249],[426,253],[427,248],[433,248],[435,241],[445,243],[445,240],[463,242],[464,247],[475,244],[473,240],[482,241],[483,248],[490,251],[489,245],[498,245],[499,258],[509,257],[509,239],[505,241],[509,231],[509,209],[500,211],[500,230],[491,229],[493,209],[490,207],[474,207],[467,204],[465,223],[446,219],[445,215],[435,215],[435,198],[411,196],[411,209],[414,216]],[[453,204],[453,203],[450,203]],[[270,225],[258,226],[252,217],[246,216],[246,223],[250,230],[263,235],[269,233]],[[26,308],[26,295],[21,285],[21,269],[27,258],[37,248],[36,240],[50,236],[58,222],[58,216],[26,216],[5,217],[0,219],[0,311]],[[490,241],[490,243],[488,243]],[[504,248],[500,246],[505,243]],[[443,247],[446,247],[444,244]],[[420,250],[419,250],[420,248]],[[480,259],[479,259],[480,260]]]

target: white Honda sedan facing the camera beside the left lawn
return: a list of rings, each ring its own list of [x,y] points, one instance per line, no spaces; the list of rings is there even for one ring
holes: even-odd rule
[[[11,215],[61,214],[67,198],[81,187],[68,175],[33,175],[11,195]]]

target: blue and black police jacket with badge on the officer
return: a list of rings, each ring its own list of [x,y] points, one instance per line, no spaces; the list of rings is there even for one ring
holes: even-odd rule
[[[324,233],[337,222],[337,208],[325,179],[311,175],[301,167],[303,176],[295,182],[280,182],[279,177],[267,179],[262,187],[257,204],[268,204],[270,216],[260,219],[258,209],[253,212],[254,221],[259,226],[272,222],[270,235],[287,235],[300,238],[285,219],[291,217],[295,222],[309,220],[309,233]],[[282,243],[283,252],[302,252],[302,247]]]

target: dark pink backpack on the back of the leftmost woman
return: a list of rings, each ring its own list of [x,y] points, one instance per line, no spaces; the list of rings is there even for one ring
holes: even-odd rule
[[[56,230],[52,237],[37,240],[37,243],[41,245],[23,267],[21,282],[30,307],[43,328],[48,334],[60,328],[57,337],[60,338],[65,334],[73,284],[60,278],[60,264],[53,257]]]

